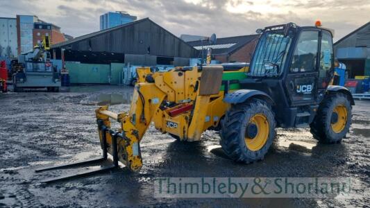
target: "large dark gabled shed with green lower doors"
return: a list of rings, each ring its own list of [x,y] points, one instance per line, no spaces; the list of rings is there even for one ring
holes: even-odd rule
[[[198,51],[149,18],[53,44],[71,83],[119,84],[124,64],[188,66]]]

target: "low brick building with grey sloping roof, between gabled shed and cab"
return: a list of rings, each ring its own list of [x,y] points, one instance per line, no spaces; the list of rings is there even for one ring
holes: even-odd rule
[[[198,57],[205,58],[207,49],[212,48],[212,60],[224,62],[250,62],[258,35],[242,35],[235,37],[217,38],[215,44],[208,40],[187,42],[199,51]]]

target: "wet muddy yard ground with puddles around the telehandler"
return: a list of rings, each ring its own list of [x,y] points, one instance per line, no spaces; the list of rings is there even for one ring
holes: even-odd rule
[[[142,140],[144,166],[56,184],[40,180],[83,171],[34,173],[36,168],[101,154],[94,110],[110,93],[131,87],[73,87],[72,92],[0,94],[0,207],[367,207],[370,173],[369,101],[356,101],[353,125],[342,144],[318,144],[308,129],[277,130],[274,146],[262,162],[235,164],[219,148],[219,135],[181,143],[153,127]],[[113,103],[125,98],[111,96]],[[119,112],[128,104],[110,107]],[[94,168],[97,168],[95,166]],[[351,177],[351,198],[154,198],[155,177]]]

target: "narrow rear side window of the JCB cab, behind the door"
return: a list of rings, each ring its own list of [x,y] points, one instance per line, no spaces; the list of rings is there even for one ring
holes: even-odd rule
[[[323,31],[321,36],[321,51],[320,51],[320,65],[319,65],[319,83],[328,84],[326,78],[330,78],[328,73],[333,69],[333,40],[331,35]]]

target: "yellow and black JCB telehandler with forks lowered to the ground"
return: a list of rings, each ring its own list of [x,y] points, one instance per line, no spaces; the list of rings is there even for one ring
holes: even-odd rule
[[[316,26],[283,24],[257,31],[258,44],[250,64],[176,67],[152,73],[137,69],[129,112],[96,109],[103,157],[113,157],[130,171],[140,171],[142,141],[149,125],[180,141],[199,141],[205,130],[219,130],[224,152],[235,162],[264,158],[276,127],[310,128],[320,142],[340,142],[351,125],[351,93],[329,85],[334,73],[333,33]],[[111,122],[119,122],[112,129]],[[84,164],[67,164],[61,168]],[[43,168],[45,171],[51,168]],[[44,182],[65,180],[67,175]]]

